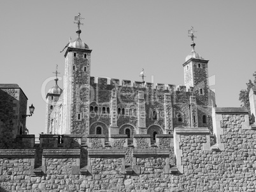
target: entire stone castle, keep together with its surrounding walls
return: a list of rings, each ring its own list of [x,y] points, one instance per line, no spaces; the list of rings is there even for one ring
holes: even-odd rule
[[[1,99],[10,102],[0,103],[2,111],[13,107],[4,118],[0,113],[0,191],[255,191],[255,87],[252,122],[245,108],[216,107],[208,60],[194,42],[183,64],[185,86],[96,83],[80,15],[76,20],[78,37],[64,54],[64,89],[56,78],[46,95],[39,144],[20,132],[25,121],[17,114],[26,112],[27,98],[17,95],[24,93],[0,86]],[[2,144],[6,133],[9,146]]]

